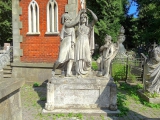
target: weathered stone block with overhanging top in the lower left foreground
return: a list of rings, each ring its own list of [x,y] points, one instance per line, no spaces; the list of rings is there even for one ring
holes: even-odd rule
[[[1,79],[0,120],[22,120],[20,88],[24,79]]]

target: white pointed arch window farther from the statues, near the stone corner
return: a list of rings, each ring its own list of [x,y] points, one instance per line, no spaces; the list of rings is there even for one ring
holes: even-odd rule
[[[39,32],[39,6],[32,0],[28,6],[28,33],[40,34]]]

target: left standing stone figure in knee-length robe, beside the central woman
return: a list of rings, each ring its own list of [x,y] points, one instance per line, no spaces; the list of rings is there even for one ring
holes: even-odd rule
[[[55,62],[52,70],[53,76],[55,69],[61,68],[62,75],[65,75],[64,69],[67,69],[66,76],[70,77],[71,69],[74,61],[74,44],[75,44],[75,29],[74,27],[66,27],[65,24],[71,22],[71,17],[68,13],[62,15],[62,30],[60,33],[61,43],[58,60]]]

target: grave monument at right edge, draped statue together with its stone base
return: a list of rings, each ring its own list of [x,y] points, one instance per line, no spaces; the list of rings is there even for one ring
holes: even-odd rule
[[[160,103],[160,46],[153,45],[149,57],[145,58],[143,71],[143,90],[138,90],[140,96],[150,103]],[[152,96],[154,95],[154,97]]]

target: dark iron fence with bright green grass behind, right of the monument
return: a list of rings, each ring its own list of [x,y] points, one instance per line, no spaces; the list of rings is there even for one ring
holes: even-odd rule
[[[115,58],[111,65],[111,74],[114,79],[129,80],[143,79],[144,58],[121,57]],[[136,78],[135,78],[136,77]]]

